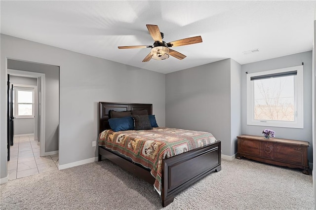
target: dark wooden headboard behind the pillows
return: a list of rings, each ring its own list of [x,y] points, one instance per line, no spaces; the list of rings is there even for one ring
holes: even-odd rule
[[[99,133],[106,129],[110,129],[109,118],[110,110],[115,111],[131,111],[146,109],[148,114],[153,114],[152,104],[130,104],[130,103],[112,103],[112,102],[99,102]]]

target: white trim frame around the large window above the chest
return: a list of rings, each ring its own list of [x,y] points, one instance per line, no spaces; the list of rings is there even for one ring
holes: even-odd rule
[[[288,67],[276,70],[260,71],[255,73],[247,74],[247,125],[257,125],[257,126],[272,126],[272,127],[283,127],[283,128],[304,128],[304,101],[303,101],[303,66]],[[267,75],[273,73],[287,72],[287,71],[297,71],[296,76],[296,86],[294,93],[296,100],[294,102],[294,111],[296,115],[294,116],[294,121],[281,121],[281,120],[255,120],[254,119],[254,83],[250,80],[253,76]],[[295,84],[294,84],[295,85]]]

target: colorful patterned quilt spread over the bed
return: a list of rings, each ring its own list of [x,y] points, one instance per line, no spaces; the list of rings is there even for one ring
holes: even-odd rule
[[[161,194],[162,159],[215,142],[212,134],[158,127],[153,130],[105,130],[99,135],[99,146],[118,151],[133,162],[149,168],[156,178],[154,187]]]

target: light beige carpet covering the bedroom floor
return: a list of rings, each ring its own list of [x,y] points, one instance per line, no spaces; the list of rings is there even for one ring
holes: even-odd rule
[[[108,160],[32,175],[0,185],[1,210],[157,210],[154,187]],[[247,159],[222,160],[166,210],[312,210],[312,175]]]

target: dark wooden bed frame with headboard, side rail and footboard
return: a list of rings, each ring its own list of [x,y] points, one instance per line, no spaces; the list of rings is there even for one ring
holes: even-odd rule
[[[110,110],[142,109],[146,109],[148,114],[152,114],[153,105],[99,102],[99,133],[110,128],[108,122]],[[110,149],[99,146],[99,161],[102,157],[151,184],[155,182],[155,178],[148,169],[118,156]],[[213,171],[221,171],[221,141],[162,160],[162,206],[169,205],[177,193]]]

